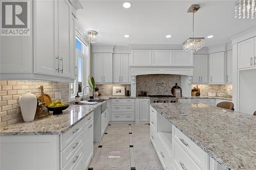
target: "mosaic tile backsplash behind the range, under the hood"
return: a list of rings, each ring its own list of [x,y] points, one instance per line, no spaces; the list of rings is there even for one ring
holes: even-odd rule
[[[136,77],[137,94],[147,91],[147,95],[172,94],[175,83],[180,86],[180,75],[140,75]]]

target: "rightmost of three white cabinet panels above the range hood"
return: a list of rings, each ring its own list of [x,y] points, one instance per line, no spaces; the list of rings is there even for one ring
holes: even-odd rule
[[[178,66],[193,65],[193,53],[184,52],[182,50],[174,50],[173,65],[178,65]]]

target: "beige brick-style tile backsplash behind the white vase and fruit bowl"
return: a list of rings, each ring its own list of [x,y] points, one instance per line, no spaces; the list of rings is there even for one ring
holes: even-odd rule
[[[55,92],[61,92],[61,101],[69,100],[69,83],[44,81],[0,81],[0,127],[23,122],[19,107],[19,96],[25,93],[40,95],[40,85],[44,86],[45,93],[55,100]]]

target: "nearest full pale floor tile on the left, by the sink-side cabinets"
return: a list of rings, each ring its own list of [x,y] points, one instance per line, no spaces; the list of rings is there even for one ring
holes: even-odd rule
[[[130,167],[130,148],[101,148],[95,167]]]

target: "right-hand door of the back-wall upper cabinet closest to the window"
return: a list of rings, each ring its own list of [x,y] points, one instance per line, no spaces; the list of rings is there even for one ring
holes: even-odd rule
[[[103,82],[113,83],[113,55],[112,53],[103,54]]]

